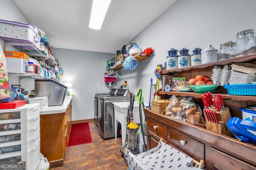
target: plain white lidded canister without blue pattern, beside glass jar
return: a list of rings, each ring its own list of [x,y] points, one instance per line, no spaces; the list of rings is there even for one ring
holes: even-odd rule
[[[208,45],[202,52],[202,64],[218,61],[218,49]]]

